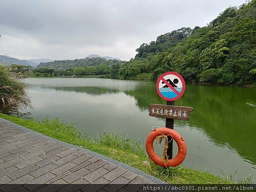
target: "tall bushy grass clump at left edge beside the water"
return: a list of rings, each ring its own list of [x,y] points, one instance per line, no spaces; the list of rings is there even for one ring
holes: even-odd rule
[[[17,114],[22,108],[31,108],[25,85],[0,64],[0,112]]]

